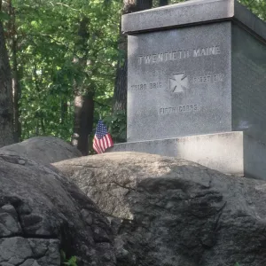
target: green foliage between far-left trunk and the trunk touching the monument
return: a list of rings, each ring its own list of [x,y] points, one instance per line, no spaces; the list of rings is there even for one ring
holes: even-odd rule
[[[107,103],[113,97],[121,4],[12,0],[12,5],[16,32],[7,43],[12,66],[12,38],[17,43],[22,139],[52,135],[69,141],[74,91],[94,94],[111,113]],[[87,21],[85,35],[82,21]],[[8,27],[6,23],[6,31]],[[96,105],[95,113],[102,109]]]

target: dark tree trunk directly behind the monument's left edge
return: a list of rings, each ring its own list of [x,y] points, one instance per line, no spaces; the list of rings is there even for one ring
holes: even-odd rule
[[[150,9],[153,6],[153,0],[124,0],[123,14],[138,12]],[[116,76],[113,91],[113,113],[127,110],[127,75],[128,75],[128,49],[127,36],[121,34],[118,49],[121,51],[121,57],[118,59]]]

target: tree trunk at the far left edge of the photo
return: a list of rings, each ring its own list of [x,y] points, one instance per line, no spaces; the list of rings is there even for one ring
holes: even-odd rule
[[[13,143],[12,75],[0,21],[0,147]]]

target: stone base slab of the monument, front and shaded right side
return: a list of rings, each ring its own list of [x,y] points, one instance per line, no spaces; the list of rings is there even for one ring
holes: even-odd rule
[[[109,152],[153,153],[192,160],[224,174],[266,180],[266,145],[243,131],[114,145]]]

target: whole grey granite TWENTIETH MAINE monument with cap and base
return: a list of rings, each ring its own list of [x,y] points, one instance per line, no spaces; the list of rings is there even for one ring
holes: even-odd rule
[[[128,143],[113,151],[266,179],[266,23],[235,0],[194,0],[124,15],[122,31]]]

